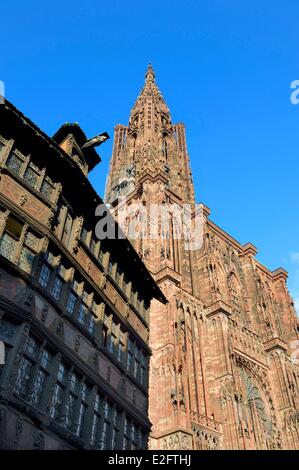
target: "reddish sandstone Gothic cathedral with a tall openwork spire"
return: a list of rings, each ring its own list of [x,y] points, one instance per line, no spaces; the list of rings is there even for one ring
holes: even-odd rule
[[[128,237],[168,301],[154,299],[149,313],[149,448],[298,449],[299,326],[287,272],[270,271],[253,244],[195,204],[185,127],[172,123],[151,65],[128,125],[115,127],[105,200],[118,220],[126,207]],[[132,236],[152,207],[165,208],[166,232],[158,218],[156,236],[151,222]],[[191,225],[201,222],[192,247],[176,233],[174,208],[184,207]]]

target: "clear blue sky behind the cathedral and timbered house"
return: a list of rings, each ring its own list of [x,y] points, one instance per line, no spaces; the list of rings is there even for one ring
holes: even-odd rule
[[[2,2],[0,80],[50,135],[127,123],[151,61],[173,121],[183,121],[196,197],[299,302],[298,0]],[[112,140],[91,181],[100,194]]]

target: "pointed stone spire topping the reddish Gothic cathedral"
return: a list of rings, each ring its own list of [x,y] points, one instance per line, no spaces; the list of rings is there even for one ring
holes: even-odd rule
[[[107,202],[129,195],[145,174],[153,178],[159,175],[165,181],[165,189],[183,201],[194,201],[185,127],[172,123],[151,64],[131,109],[128,126],[116,126],[114,137]]]

